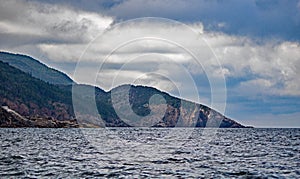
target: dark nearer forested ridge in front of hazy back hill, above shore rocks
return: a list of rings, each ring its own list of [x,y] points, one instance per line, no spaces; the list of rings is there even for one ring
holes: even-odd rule
[[[245,127],[208,106],[173,97],[153,87],[121,85],[104,91],[75,83],[51,84],[1,59],[0,69],[0,104],[29,119],[76,119],[81,127]],[[87,95],[87,90],[94,95]],[[119,93],[112,95],[116,91]],[[153,96],[159,98],[153,100]],[[96,110],[90,108],[93,97]],[[76,99],[79,108],[75,110]]]

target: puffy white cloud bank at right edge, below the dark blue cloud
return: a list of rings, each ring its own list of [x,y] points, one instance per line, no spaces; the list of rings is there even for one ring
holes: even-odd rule
[[[230,69],[228,77],[253,76],[243,81],[243,91],[260,94],[300,95],[300,45],[297,42],[253,42],[232,44],[220,39],[215,52],[223,66]],[[226,39],[228,40],[228,39]],[[241,39],[243,42],[244,40]],[[214,42],[218,44],[217,42]],[[250,90],[251,89],[251,90]]]

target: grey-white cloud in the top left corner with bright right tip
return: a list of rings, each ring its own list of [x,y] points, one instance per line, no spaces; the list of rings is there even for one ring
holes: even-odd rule
[[[14,0],[1,3],[0,16],[1,46],[14,47],[86,43],[113,22],[113,18],[99,13]]]

